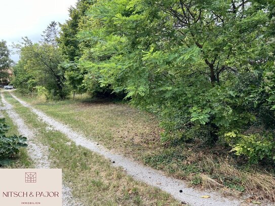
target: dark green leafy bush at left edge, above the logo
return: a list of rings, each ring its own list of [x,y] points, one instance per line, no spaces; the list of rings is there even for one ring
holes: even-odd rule
[[[27,139],[22,136],[13,135],[7,137],[5,134],[9,127],[4,118],[0,119],[0,164],[7,158],[14,157],[19,153],[21,147],[26,147]]]

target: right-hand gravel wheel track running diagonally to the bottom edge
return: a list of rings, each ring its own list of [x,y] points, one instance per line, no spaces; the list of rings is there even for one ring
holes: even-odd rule
[[[163,191],[166,191],[173,195],[176,199],[186,202],[194,206],[234,206],[241,205],[241,202],[238,200],[232,200],[225,197],[221,197],[218,193],[207,191],[202,192],[195,190],[193,188],[188,188],[187,185],[178,179],[170,178],[165,176],[163,173],[153,170],[151,168],[142,166],[137,162],[133,162],[128,158],[113,154],[110,151],[106,150],[102,146],[98,145],[96,142],[87,140],[82,134],[79,134],[69,128],[67,125],[56,121],[55,119],[49,117],[45,113],[31,107],[26,102],[20,100],[13,94],[11,94],[17,101],[19,101],[23,106],[29,107],[32,112],[37,114],[41,120],[48,123],[54,130],[57,130],[65,134],[69,139],[74,141],[77,145],[81,145],[90,149],[91,151],[97,152],[104,157],[110,159],[115,167],[122,167],[124,170],[135,179],[145,182],[149,185],[158,187]],[[179,192],[182,190],[182,192]],[[210,198],[201,198],[203,195],[210,195]]]

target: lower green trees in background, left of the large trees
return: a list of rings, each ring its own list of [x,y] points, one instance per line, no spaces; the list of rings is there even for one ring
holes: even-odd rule
[[[63,57],[57,45],[57,23],[52,22],[44,31],[40,43],[27,37],[17,45],[20,60],[14,67],[12,83],[22,93],[37,92],[48,99],[64,99],[67,95]]]

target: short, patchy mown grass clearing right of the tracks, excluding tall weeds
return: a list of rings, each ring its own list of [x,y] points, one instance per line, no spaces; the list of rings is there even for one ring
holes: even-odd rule
[[[32,102],[29,98],[20,98],[106,148],[125,154],[137,154],[135,158],[139,160],[144,151],[161,147],[156,119],[128,105],[87,99],[86,96],[83,96],[84,99],[78,97],[76,101],[58,102],[39,99]],[[128,148],[131,150],[127,150]]]

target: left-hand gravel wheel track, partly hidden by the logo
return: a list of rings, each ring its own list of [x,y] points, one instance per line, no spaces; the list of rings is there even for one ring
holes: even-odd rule
[[[13,110],[12,105],[5,100],[3,93],[1,93],[1,98],[5,107],[0,110],[6,110],[14,125],[17,126],[19,134],[27,137],[28,154],[34,161],[35,167],[37,169],[50,168],[51,162],[48,159],[49,148],[35,141],[36,132],[28,128],[24,120]],[[0,117],[3,117],[3,115],[0,114]],[[63,206],[83,205],[76,203],[72,197],[71,189],[64,184],[62,185],[62,202]]]

